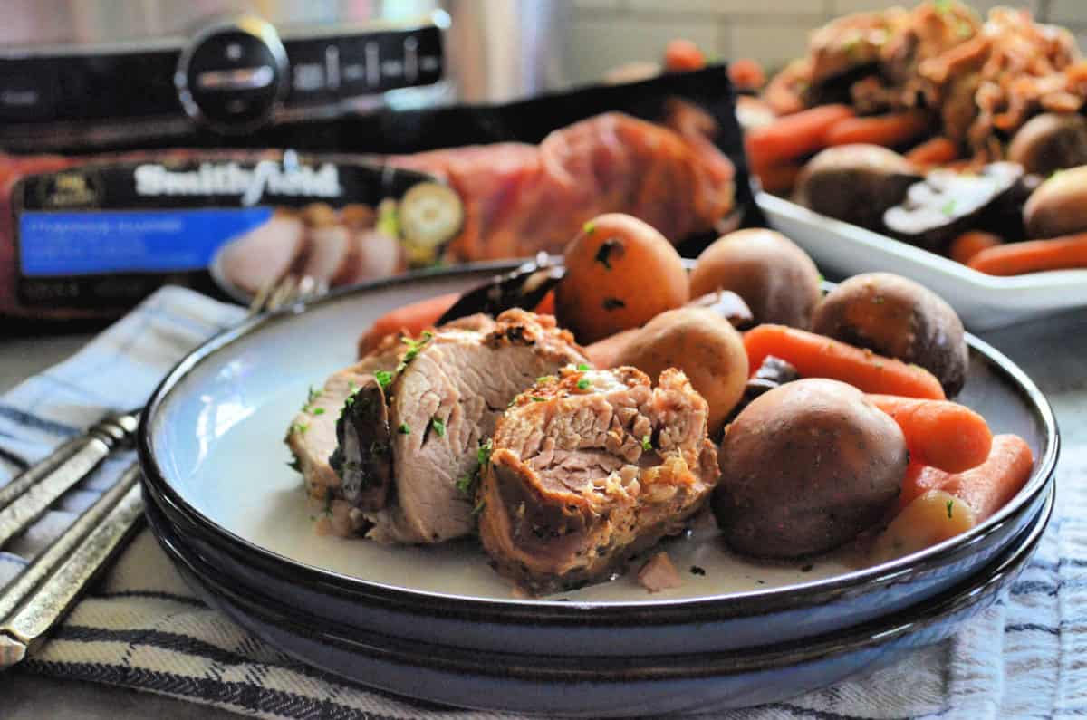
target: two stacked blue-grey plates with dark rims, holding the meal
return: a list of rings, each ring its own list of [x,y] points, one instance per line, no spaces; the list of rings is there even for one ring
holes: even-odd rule
[[[1030,444],[1034,474],[985,523],[894,562],[758,563],[728,553],[703,518],[666,544],[682,587],[650,595],[621,578],[516,599],[472,542],[392,548],[315,534],[320,509],[280,442],[307,387],[352,362],[383,312],[512,266],[334,294],[218,336],[170,374],[140,434],[148,516],[209,603],[305,662],[402,695],[658,715],[778,700],[890,661],[994,603],[1033,555],[1052,509],[1055,422],[1029,378],[974,338],[960,399]]]

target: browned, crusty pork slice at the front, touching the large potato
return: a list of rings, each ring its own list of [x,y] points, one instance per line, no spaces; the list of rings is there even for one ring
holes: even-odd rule
[[[679,532],[719,479],[705,400],[678,370],[565,368],[499,420],[478,491],[497,569],[537,595],[608,579]]]

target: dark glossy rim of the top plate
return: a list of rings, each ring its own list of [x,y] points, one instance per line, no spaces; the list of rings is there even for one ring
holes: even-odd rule
[[[173,397],[175,388],[182,380],[202,363],[211,362],[215,356],[229,348],[235,343],[246,338],[262,328],[291,322],[311,309],[343,301],[353,297],[386,290],[391,287],[408,286],[421,281],[475,278],[510,271],[524,262],[520,260],[499,260],[483,263],[470,263],[449,269],[432,269],[404,275],[379,278],[370,283],[336,288],[320,298],[297,302],[271,313],[249,318],[237,326],[223,331],[190,351],[171,370],[152,393],[145,411],[140,415],[137,433],[137,451],[143,470],[145,482],[155,495],[168,504],[175,512],[185,517],[193,526],[201,529],[205,536],[228,550],[245,551],[250,561],[259,560],[268,571],[277,575],[285,571],[293,576],[304,573],[316,582],[332,585],[340,592],[385,599],[409,607],[436,607],[445,612],[454,610],[458,615],[468,613],[473,617],[496,616],[515,619],[518,616],[532,617],[535,621],[552,620],[558,622],[592,622],[612,620],[629,622],[638,617],[647,622],[666,623],[676,617],[685,621],[699,613],[709,612],[721,617],[723,607],[732,606],[733,613],[746,615],[755,612],[764,615],[777,609],[789,609],[810,605],[822,605],[835,598],[848,595],[859,587],[872,587],[904,581],[913,573],[929,564],[945,564],[960,557],[972,555],[972,548],[984,544],[992,533],[998,532],[1019,510],[1040,493],[1053,479],[1053,472],[1060,449],[1060,433],[1052,407],[1041,390],[1026,373],[988,343],[966,333],[967,344],[972,350],[980,353],[984,361],[1000,372],[1011,375],[1016,392],[1024,395],[1027,405],[1032,406],[1042,421],[1047,444],[1041,457],[1036,460],[1030,479],[1012,501],[1002,507],[985,522],[958,535],[925,548],[917,553],[898,558],[871,568],[862,568],[848,573],[827,579],[812,580],[799,584],[786,585],[769,589],[753,589],[739,593],[705,595],[689,598],[671,598],[655,601],[646,600],[573,600],[557,601],[546,598],[482,598],[474,596],[420,591],[368,581],[354,575],[348,575],[326,568],[312,566],[241,537],[232,530],[224,527],[190,504],[184,495],[166,479],[157,460],[155,448],[151,438],[151,419],[155,418],[167,401]],[[767,603],[772,605],[767,605]]]

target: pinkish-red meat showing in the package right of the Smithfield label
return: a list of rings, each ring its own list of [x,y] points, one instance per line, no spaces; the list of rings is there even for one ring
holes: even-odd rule
[[[712,117],[673,103],[665,127],[604,113],[520,142],[435,150],[392,164],[448,182],[464,203],[457,260],[561,252],[589,219],[625,212],[673,243],[714,231],[735,203],[732,162]]]

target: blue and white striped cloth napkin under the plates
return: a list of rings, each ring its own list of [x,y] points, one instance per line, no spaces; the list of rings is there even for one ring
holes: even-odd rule
[[[0,455],[33,462],[107,410],[138,407],[189,349],[242,315],[164,288],[86,348],[0,398]],[[1064,363],[1087,377],[1087,365]],[[1079,370],[1077,370],[1079,369]],[[789,702],[727,718],[1065,718],[1087,715],[1087,402],[1078,377],[1054,398],[1064,449],[1058,509],[1001,604],[939,645]],[[111,459],[0,551],[5,583],[132,461]],[[0,485],[18,470],[0,458]],[[260,718],[499,718],[436,709],[345,683],[287,658],[207,607],[148,531],[18,672],[109,683]]]

